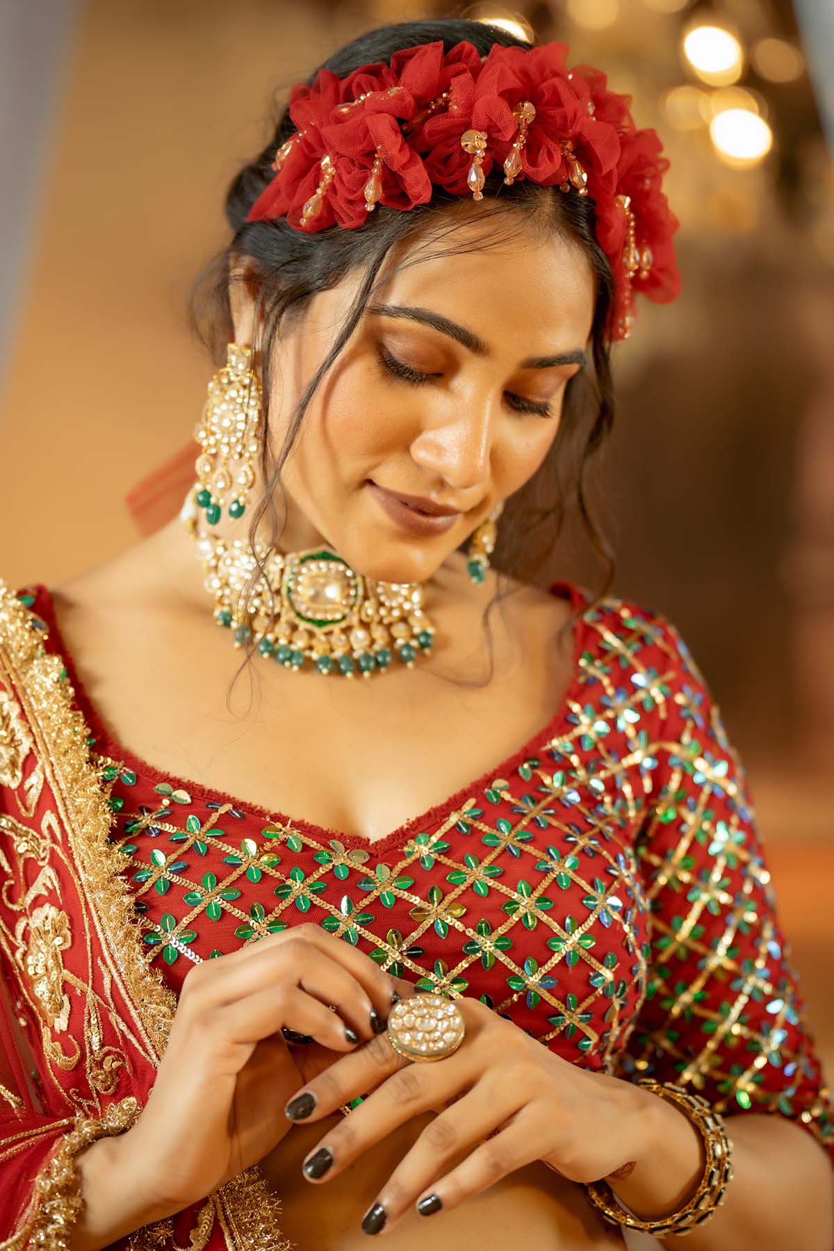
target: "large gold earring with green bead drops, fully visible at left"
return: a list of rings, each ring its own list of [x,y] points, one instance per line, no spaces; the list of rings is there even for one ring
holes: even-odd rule
[[[196,503],[216,525],[229,502],[229,515],[243,517],[255,483],[261,450],[261,388],[251,368],[251,348],[230,343],[226,364],[209,383],[209,395],[194,437],[203,448],[196,459]],[[238,463],[233,470],[231,462]]]

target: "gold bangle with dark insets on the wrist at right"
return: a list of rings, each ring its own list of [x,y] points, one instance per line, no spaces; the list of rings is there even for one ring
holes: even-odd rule
[[[676,1103],[701,1136],[706,1157],[704,1173],[695,1193],[678,1212],[655,1221],[641,1221],[620,1207],[614,1191],[605,1181],[585,1183],[585,1193],[610,1225],[624,1225],[629,1230],[641,1230],[655,1237],[668,1233],[690,1233],[721,1206],[728,1182],[733,1180],[731,1143],[724,1121],[705,1098],[675,1086],[673,1082],[655,1082],[649,1077],[638,1083],[660,1098]]]

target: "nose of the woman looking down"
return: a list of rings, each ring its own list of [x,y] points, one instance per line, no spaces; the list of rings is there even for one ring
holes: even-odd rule
[[[480,494],[489,483],[495,419],[490,398],[458,399],[443,419],[426,418],[411,443],[411,457],[429,475],[444,478],[451,490]]]

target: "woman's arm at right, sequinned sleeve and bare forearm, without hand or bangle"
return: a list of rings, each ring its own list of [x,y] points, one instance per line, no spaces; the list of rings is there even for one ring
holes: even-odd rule
[[[691,1251],[830,1251],[834,1132],[744,771],[673,627],[663,646],[678,681],[640,847],[651,977],[624,1070],[694,1090],[726,1118],[735,1175],[724,1206],[689,1235]],[[693,1193],[701,1148],[678,1108],[639,1088],[635,1098],[646,1110],[641,1161],[610,1185],[651,1220]]]

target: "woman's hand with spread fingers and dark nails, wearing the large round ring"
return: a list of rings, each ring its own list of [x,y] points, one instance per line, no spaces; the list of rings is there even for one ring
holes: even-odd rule
[[[414,1063],[381,1035],[290,1100],[288,1116],[308,1123],[373,1092],[304,1161],[310,1181],[334,1177],[410,1117],[439,1112],[374,1196],[366,1233],[393,1228],[414,1202],[423,1215],[456,1207],[534,1160],[585,1182],[628,1172],[644,1155],[646,1112],[656,1098],[554,1056],[478,1000],[455,1003],[466,1035],[453,1055]],[[315,1106],[300,1116],[306,1096]],[[450,1167],[454,1160],[460,1162]]]

